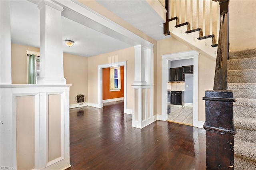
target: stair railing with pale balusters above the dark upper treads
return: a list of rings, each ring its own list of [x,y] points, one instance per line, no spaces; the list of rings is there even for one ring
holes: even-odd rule
[[[190,30],[202,28],[202,36],[214,34],[218,43],[220,8],[217,2],[212,0],[166,0],[165,8],[169,13],[166,16],[166,21],[178,17],[179,23],[177,24],[189,22]],[[165,26],[168,27],[167,24]],[[170,34],[168,32],[168,28],[164,29],[164,35]]]

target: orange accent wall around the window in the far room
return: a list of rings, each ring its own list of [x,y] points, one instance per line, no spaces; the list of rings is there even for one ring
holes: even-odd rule
[[[121,73],[121,90],[120,91],[109,91],[109,68],[102,69],[102,99],[115,99],[124,97],[124,66],[120,67]]]

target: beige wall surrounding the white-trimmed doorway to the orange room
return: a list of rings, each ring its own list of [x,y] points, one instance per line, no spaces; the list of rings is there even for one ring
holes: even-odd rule
[[[113,56],[113,57],[112,57]],[[98,65],[127,61],[127,109],[133,109],[134,47],[88,57],[88,102],[98,103]]]

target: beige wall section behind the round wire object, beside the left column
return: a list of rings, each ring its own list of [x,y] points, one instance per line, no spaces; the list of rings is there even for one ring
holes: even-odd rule
[[[69,103],[77,104],[76,95],[83,94],[88,101],[88,58],[63,53],[64,77],[70,87]]]

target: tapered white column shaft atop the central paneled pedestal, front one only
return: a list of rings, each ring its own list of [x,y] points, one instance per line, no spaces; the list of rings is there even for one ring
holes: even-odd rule
[[[135,68],[133,85],[145,85],[145,47],[136,45],[135,48]]]

